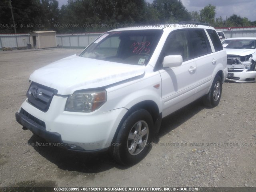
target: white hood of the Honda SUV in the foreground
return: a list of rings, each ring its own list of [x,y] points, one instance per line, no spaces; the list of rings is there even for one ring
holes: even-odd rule
[[[76,55],[44,66],[30,80],[58,90],[60,95],[76,90],[104,87],[144,74],[145,66],[120,64]]]

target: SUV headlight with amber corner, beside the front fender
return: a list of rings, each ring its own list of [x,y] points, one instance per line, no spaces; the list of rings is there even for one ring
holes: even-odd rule
[[[106,90],[95,92],[74,92],[68,96],[65,111],[72,112],[93,112],[100,108],[107,100]]]

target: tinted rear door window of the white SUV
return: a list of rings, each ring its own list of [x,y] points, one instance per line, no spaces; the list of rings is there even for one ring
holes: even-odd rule
[[[188,29],[187,32],[192,58],[212,53],[208,37],[203,29]]]

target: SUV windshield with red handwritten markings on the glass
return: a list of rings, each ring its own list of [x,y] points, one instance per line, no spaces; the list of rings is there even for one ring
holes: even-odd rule
[[[162,30],[107,32],[79,56],[124,64],[144,65],[152,56]]]

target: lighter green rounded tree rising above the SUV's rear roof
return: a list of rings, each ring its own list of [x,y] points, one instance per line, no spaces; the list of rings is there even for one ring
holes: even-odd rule
[[[214,25],[214,18],[215,18],[215,9],[216,7],[209,4],[205,6],[203,9],[200,10],[200,22],[209,23]]]

